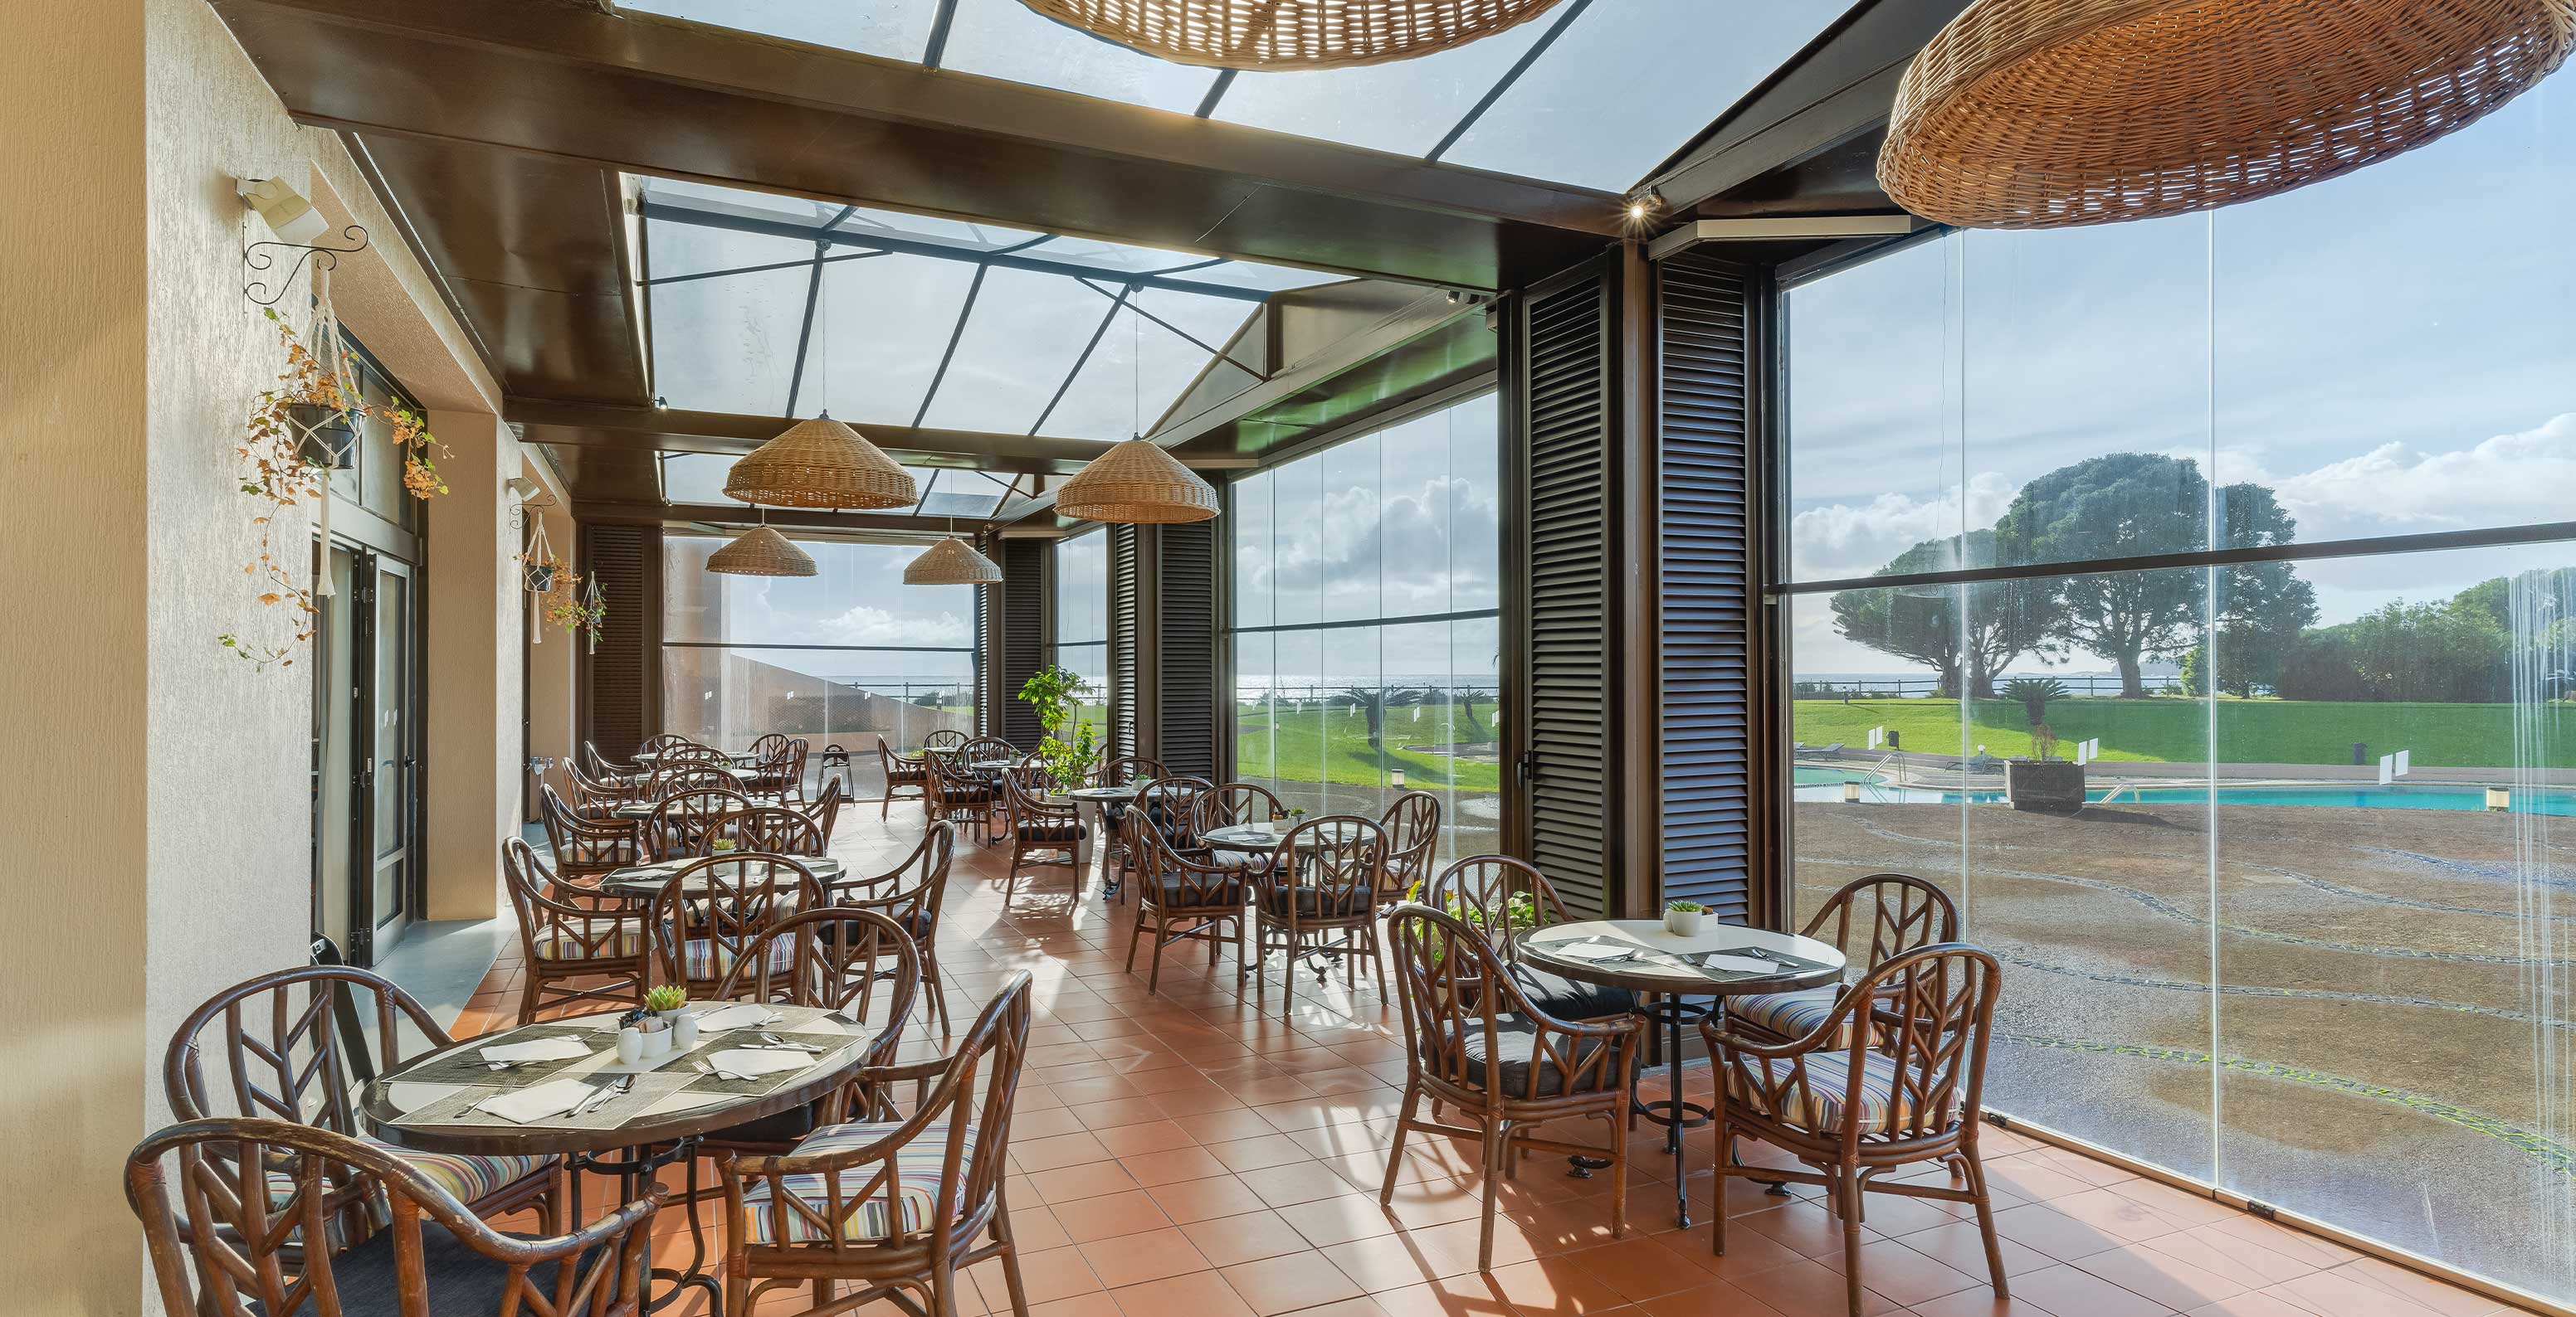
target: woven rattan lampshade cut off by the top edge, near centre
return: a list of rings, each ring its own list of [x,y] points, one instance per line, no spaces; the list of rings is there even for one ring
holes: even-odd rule
[[[1020,0],[1175,64],[1340,69],[1466,46],[1558,0]]]

